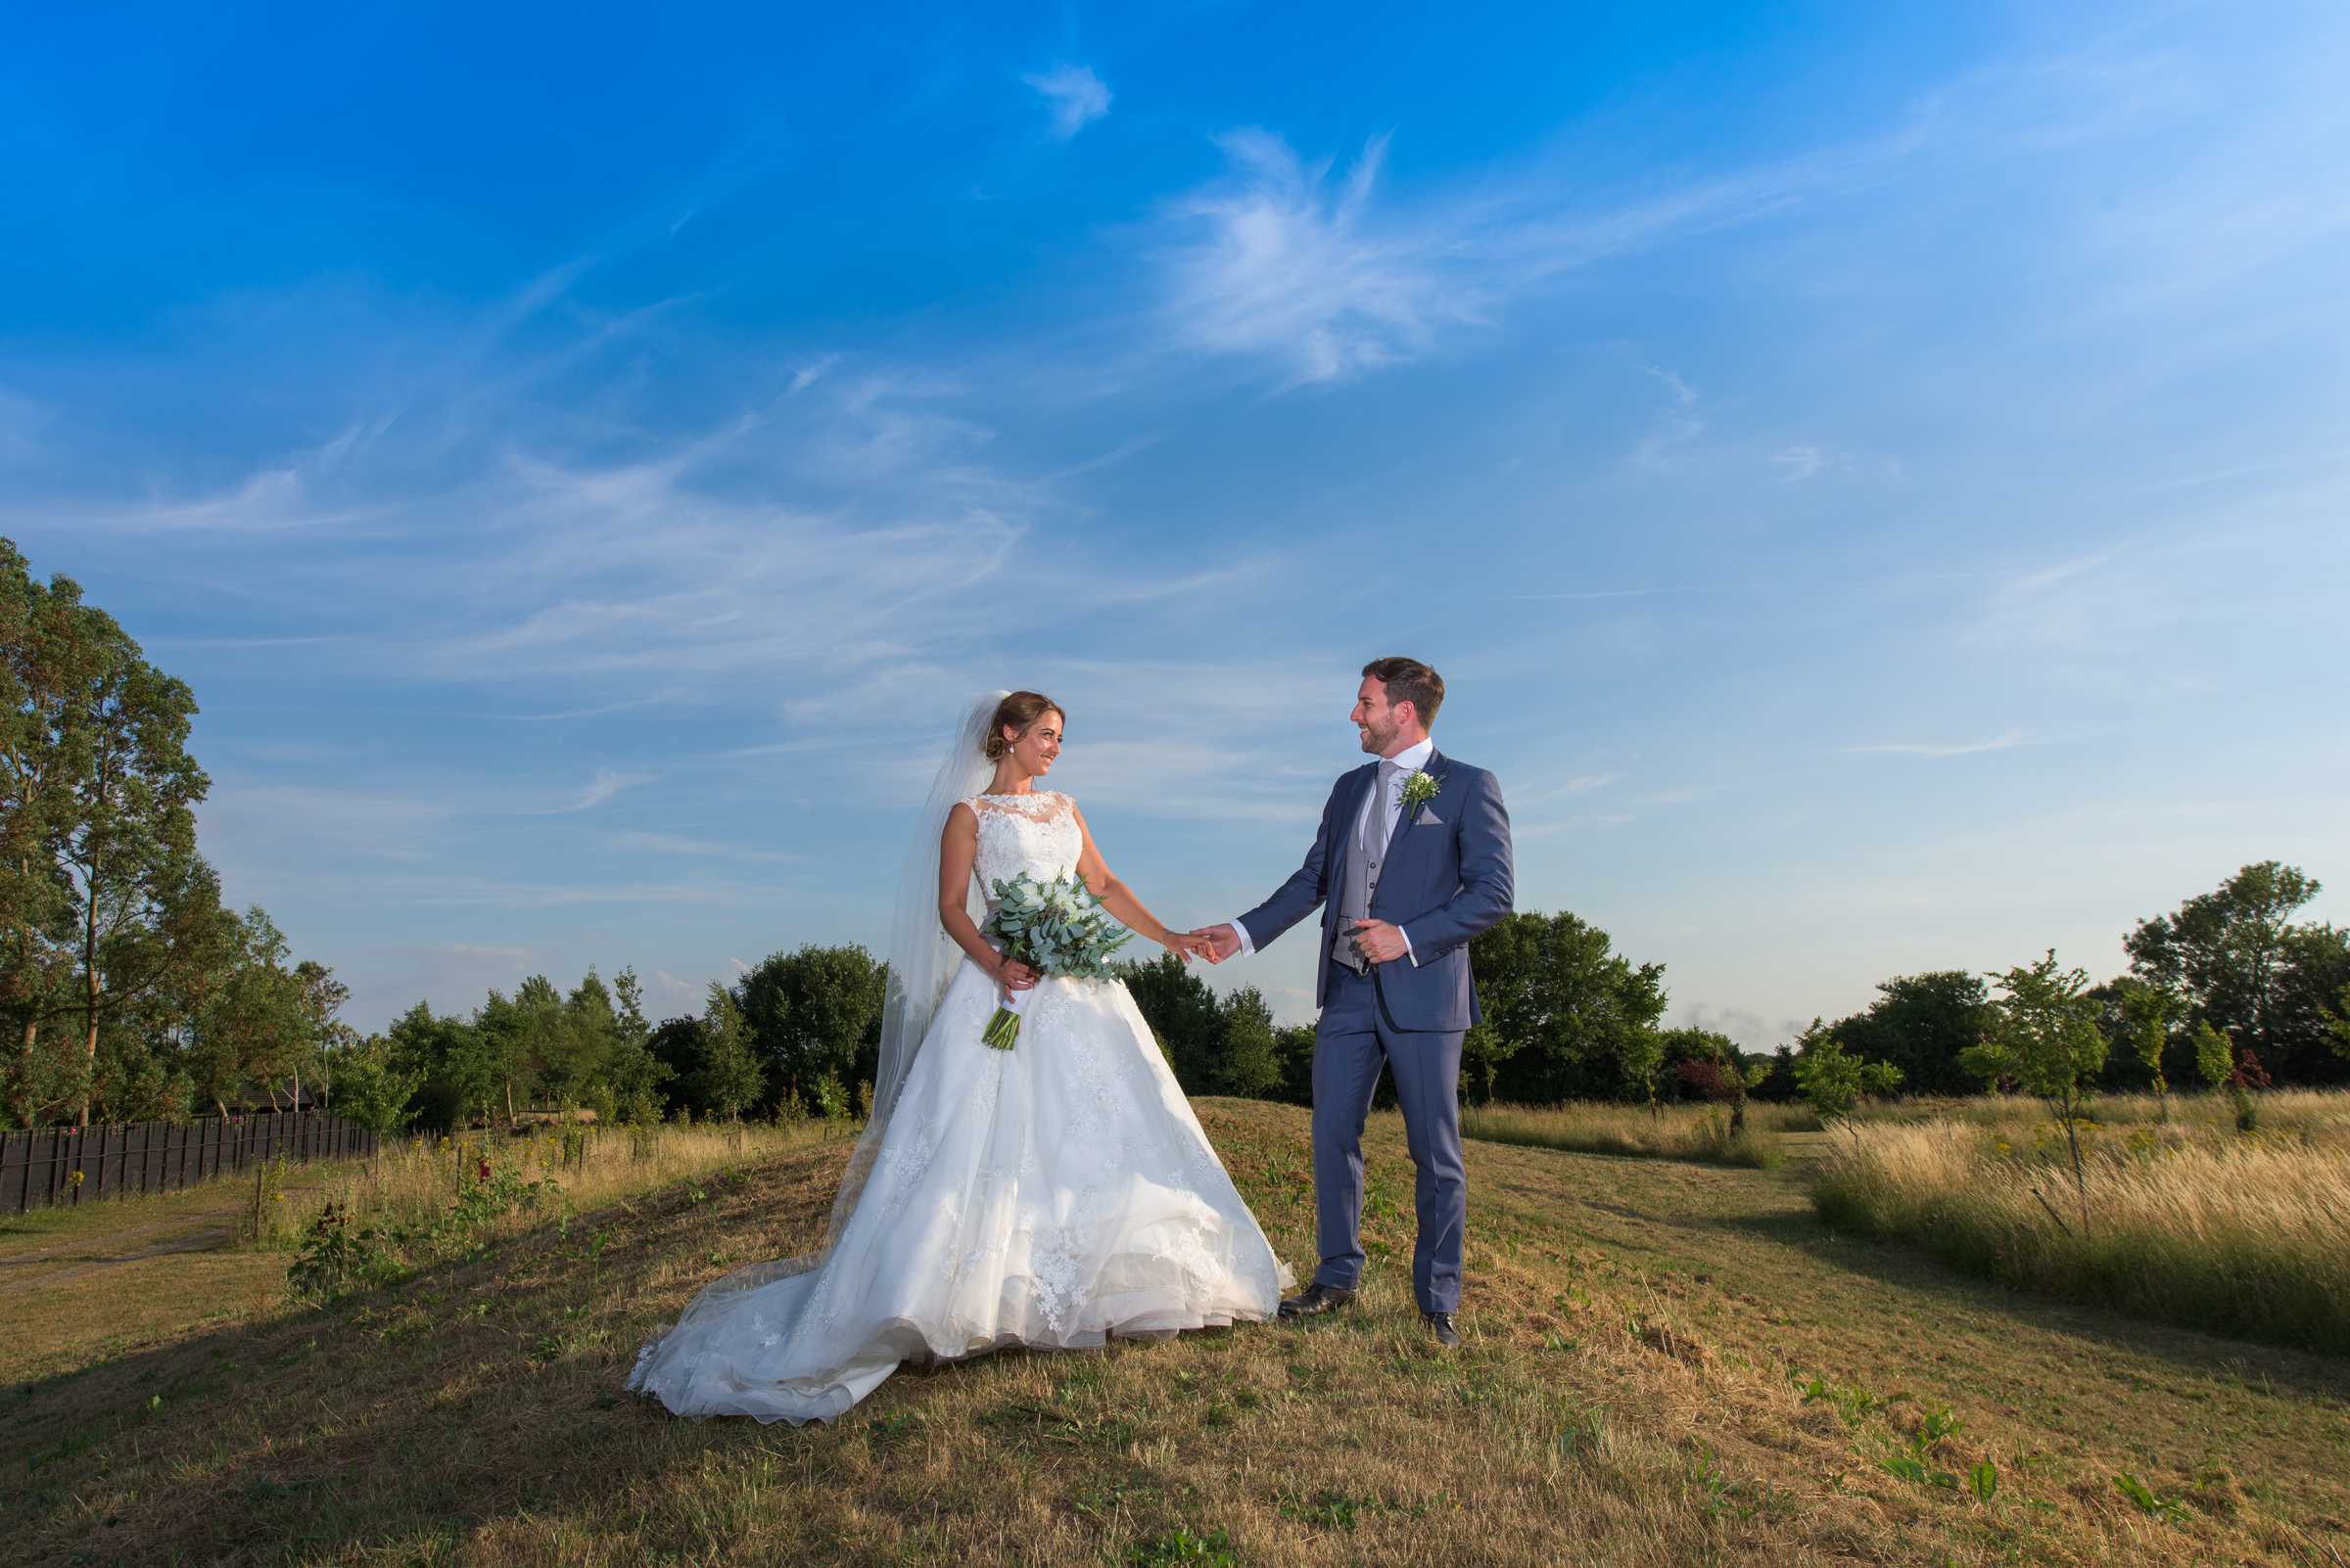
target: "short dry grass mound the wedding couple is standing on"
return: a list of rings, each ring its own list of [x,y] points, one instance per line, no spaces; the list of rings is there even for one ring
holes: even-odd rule
[[[1307,1265],[1307,1115],[1201,1115]],[[1793,1164],[1497,1143],[1443,1354],[1394,1117],[1368,1153],[1354,1314],[907,1368],[837,1427],[682,1422],[620,1378],[693,1289],[813,1242],[841,1141],[517,1218],[334,1312],[85,1340],[0,1404],[0,1561],[2350,1561],[2341,1359],[1831,1230]]]

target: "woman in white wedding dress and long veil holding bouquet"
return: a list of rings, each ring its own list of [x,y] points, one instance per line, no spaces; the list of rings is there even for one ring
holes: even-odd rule
[[[874,1115],[825,1249],[705,1289],[627,1387],[677,1415],[834,1420],[905,1359],[1274,1317],[1290,1270],[1126,986],[1043,979],[980,934],[994,883],[1074,871],[1135,932],[1206,951],[1109,873],[1069,796],[1036,789],[1065,723],[1036,692],[982,697],[938,770],[898,887]],[[999,1052],[980,1033],[1013,991],[1020,1038]]]

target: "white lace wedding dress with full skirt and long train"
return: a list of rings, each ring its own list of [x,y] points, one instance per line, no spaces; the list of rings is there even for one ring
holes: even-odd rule
[[[1072,873],[1067,796],[973,796],[980,887]],[[994,899],[989,897],[989,911]],[[1116,981],[1041,981],[1010,1052],[968,958],[931,1014],[872,1174],[811,1272],[703,1291],[627,1385],[677,1415],[832,1420],[900,1361],[1274,1317],[1290,1270]],[[750,1279],[752,1284],[743,1284]]]

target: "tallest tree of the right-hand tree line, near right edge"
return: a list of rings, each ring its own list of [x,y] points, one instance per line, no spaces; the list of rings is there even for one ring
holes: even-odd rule
[[[2291,1028],[2296,1009],[2287,1007],[2289,974],[2303,953],[2291,915],[2317,892],[2317,878],[2298,866],[2272,859],[2244,866],[2216,892],[2188,899],[2176,913],[2141,920],[2122,939],[2129,969],[2186,995],[2195,1021],[2209,1021],[2237,1042],[2258,1047],[2270,1068],[2287,1068],[2305,1047],[2322,1045],[2315,1012],[2301,1007],[2301,1028]],[[2317,930],[2317,948],[2345,946],[2338,939],[2324,941],[2331,927]]]

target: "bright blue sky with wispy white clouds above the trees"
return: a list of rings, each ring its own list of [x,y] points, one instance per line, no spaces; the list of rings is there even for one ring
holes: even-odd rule
[[[1227,918],[1412,653],[1518,906],[1767,1047],[2251,859],[2350,918],[2343,80],[2326,5],[19,16],[0,530],[362,1026],[877,944],[994,685]]]

